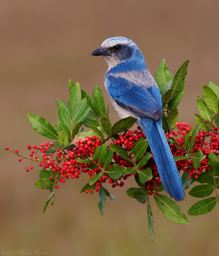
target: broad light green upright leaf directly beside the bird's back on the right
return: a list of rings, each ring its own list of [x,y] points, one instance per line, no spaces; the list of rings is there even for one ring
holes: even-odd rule
[[[155,80],[160,89],[160,93],[162,93],[165,84],[167,84],[172,78],[173,76],[167,67],[166,61],[162,60],[155,74]]]

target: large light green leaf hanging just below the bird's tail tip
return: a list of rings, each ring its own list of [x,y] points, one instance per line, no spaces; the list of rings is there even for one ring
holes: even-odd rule
[[[185,214],[182,212],[182,210],[179,208],[179,205],[177,205],[176,202],[174,202],[172,199],[165,195],[153,194],[153,196],[159,209],[162,210],[163,215],[168,220],[179,224],[189,223]]]

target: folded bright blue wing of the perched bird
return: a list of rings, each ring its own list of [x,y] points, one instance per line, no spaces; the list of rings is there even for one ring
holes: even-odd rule
[[[119,106],[140,117],[158,120],[162,116],[160,91],[156,86],[144,88],[123,77],[107,76],[107,90]],[[153,97],[154,96],[154,97]],[[156,100],[158,99],[158,100]]]

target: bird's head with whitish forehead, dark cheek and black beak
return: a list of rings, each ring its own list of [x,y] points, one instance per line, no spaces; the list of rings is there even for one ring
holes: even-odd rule
[[[91,55],[104,56],[109,68],[125,61],[144,61],[139,47],[132,40],[123,36],[108,38]]]

